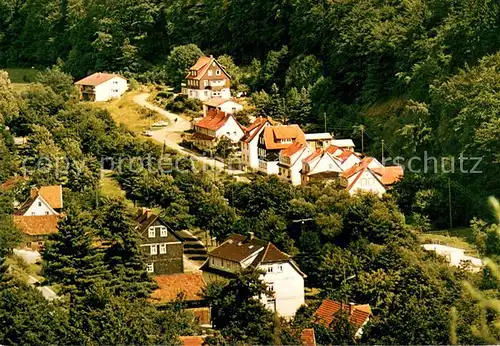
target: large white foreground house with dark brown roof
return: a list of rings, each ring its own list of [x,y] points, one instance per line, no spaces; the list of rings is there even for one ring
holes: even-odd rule
[[[286,253],[273,243],[254,237],[233,234],[208,254],[201,267],[207,282],[232,278],[244,268],[255,267],[263,274],[270,297],[262,297],[262,303],[278,315],[291,318],[304,304],[304,278],[306,275]]]

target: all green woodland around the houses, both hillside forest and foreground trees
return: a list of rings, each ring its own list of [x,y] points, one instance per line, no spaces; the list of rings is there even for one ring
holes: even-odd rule
[[[361,340],[314,326],[318,343],[500,338],[498,273],[450,267],[418,238],[449,227],[451,199],[453,225],[471,225],[479,254],[499,263],[500,214],[494,219],[487,203],[500,195],[498,1],[0,0],[0,13],[0,67],[55,65],[22,93],[0,72],[0,181],[27,173],[30,185],[62,184],[68,215],[43,255],[47,283],[68,299],[46,301],[1,265],[2,344],[162,344],[200,332],[181,301],[157,310],[145,299],[154,285],[142,270],[131,211],[97,189],[102,157],[165,155],[178,171],[115,172],[128,199],[158,208],[174,229],[200,228],[217,239],[253,231],[293,256],[319,298],[373,307]],[[249,93],[254,115],[351,136],[358,147],[363,138],[378,158],[383,150],[440,163],[427,173],[406,171],[382,199],[276,177],[214,179],[79,103],[73,88],[95,71],[178,87],[202,52],[220,57],[235,89]],[[17,148],[14,136],[28,137],[29,146]],[[461,156],[481,157],[482,173],[450,172]],[[41,158],[72,164],[40,166]],[[26,186],[0,193],[2,263],[20,241],[13,201],[27,193]],[[96,248],[96,237],[113,246]],[[265,293],[257,283],[245,289],[257,278],[242,273],[205,292],[219,317],[212,344],[295,344],[297,331],[313,327],[314,304],[292,321],[257,303],[236,311],[241,297]]]

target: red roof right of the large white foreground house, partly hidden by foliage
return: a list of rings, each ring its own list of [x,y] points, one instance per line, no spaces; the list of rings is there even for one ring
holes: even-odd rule
[[[349,315],[349,322],[358,328],[361,328],[372,314],[368,304],[342,304],[334,300],[325,299],[314,313],[314,316],[318,319],[318,323],[325,327],[330,327],[335,320],[335,315],[341,309]]]

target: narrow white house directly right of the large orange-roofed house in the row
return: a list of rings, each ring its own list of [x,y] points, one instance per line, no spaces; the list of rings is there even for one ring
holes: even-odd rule
[[[300,185],[302,160],[312,154],[309,145],[295,142],[286,149],[280,151],[278,175],[288,180],[292,185]]]

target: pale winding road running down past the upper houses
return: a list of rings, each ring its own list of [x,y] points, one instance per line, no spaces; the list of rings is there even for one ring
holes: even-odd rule
[[[191,151],[188,151],[185,148],[181,147],[176,141],[168,138],[169,133],[181,133],[181,132],[190,130],[191,129],[191,122],[180,117],[178,114],[168,112],[168,111],[148,102],[148,97],[149,97],[148,93],[143,93],[143,94],[139,94],[139,95],[135,96],[133,100],[138,105],[140,105],[142,107],[146,107],[152,111],[157,112],[158,114],[162,115],[163,117],[165,117],[169,121],[169,124],[167,127],[163,128],[161,130],[152,131],[152,134],[153,134],[152,138],[154,140],[156,140],[157,142],[162,143],[162,144],[165,143],[165,145],[167,147],[174,149],[174,150],[176,150],[184,155],[187,155],[187,156],[189,156],[197,161],[200,161],[209,167],[215,167],[216,169],[224,170],[224,171],[226,171],[226,173],[228,173],[230,175],[239,175],[239,174],[245,173],[241,170],[233,170],[233,169],[225,168],[224,163],[222,163],[220,161],[216,161],[212,158],[200,156],[200,155],[197,155]],[[177,121],[175,121],[175,119],[177,119]],[[247,181],[247,182],[249,181],[247,178],[244,178],[244,177],[236,177],[236,178],[240,181]]]

